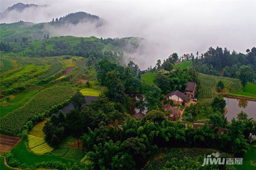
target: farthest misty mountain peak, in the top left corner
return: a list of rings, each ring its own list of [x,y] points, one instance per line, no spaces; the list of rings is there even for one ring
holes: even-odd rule
[[[8,7],[4,12],[0,13],[0,17],[4,18],[5,16],[8,16],[10,12],[16,10],[18,12],[23,11],[26,8],[34,7],[34,8],[41,8],[41,7],[47,7],[48,5],[36,5],[36,4],[23,4],[23,3],[16,3],[11,7]]]

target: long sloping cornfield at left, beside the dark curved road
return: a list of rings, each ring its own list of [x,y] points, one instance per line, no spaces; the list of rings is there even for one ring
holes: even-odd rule
[[[34,115],[67,101],[74,93],[75,91],[67,86],[53,86],[41,91],[24,106],[1,118],[1,133],[11,136],[17,135]]]

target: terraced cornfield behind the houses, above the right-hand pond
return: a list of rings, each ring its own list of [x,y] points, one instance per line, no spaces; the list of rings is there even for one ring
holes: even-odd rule
[[[241,82],[237,78],[211,76],[199,73],[199,80],[202,86],[200,90],[200,96],[202,98],[214,97],[216,92],[214,92],[212,88],[218,84],[219,80],[224,82],[225,87],[228,88],[231,93],[241,89]]]

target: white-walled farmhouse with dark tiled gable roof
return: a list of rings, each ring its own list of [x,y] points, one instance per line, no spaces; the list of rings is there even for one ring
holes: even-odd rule
[[[179,90],[173,91],[165,95],[166,100],[172,100],[175,105],[186,105],[187,104],[187,96],[181,93]]]

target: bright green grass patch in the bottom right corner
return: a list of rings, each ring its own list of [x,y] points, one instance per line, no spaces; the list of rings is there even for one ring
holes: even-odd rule
[[[234,165],[234,167],[241,170],[256,169],[256,166],[251,165],[251,161],[256,162],[256,146],[250,146],[250,150],[247,150],[243,157],[243,165]]]

